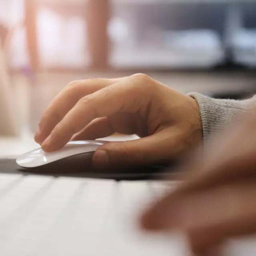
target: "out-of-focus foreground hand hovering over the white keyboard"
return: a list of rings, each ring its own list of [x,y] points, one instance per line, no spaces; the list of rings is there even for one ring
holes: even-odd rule
[[[190,168],[184,184],[144,212],[144,229],[181,230],[200,255],[256,233],[256,114],[227,134]]]

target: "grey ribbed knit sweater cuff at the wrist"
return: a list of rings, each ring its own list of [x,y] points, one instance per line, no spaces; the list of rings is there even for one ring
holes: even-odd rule
[[[249,100],[220,100],[198,93],[188,95],[199,105],[204,140],[234,126],[248,110],[256,109],[256,96]]]

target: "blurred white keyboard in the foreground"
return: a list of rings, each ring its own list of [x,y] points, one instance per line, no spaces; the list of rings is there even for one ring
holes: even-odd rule
[[[167,182],[1,174],[0,255],[190,255],[176,236],[148,235],[137,227],[142,208],[170,187]],[[250,254],[240,247],[242,254],[232,249],[228,255],[256,255],[249,245]]]

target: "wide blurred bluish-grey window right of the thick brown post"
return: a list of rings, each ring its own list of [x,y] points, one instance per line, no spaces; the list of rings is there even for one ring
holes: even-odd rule
[[[243,40],[255,45],[253,24],[256,15],[253,10],[256,10],[256,2],[240,0],[241,16],[232,13],[236,11],[234,3],[221,0],[112,0],[108,26],[111,66],[214,68],[230,58],[230,45],[226,44],[230,41],[234,64],[256,63],[256,56],[245,61],[247,57],[236,52],[237,48],[246,52],[247,49],[241,50]],[[233,26],[229,26],[231,22]],[[243,22],[244,28],[236,25]]]

